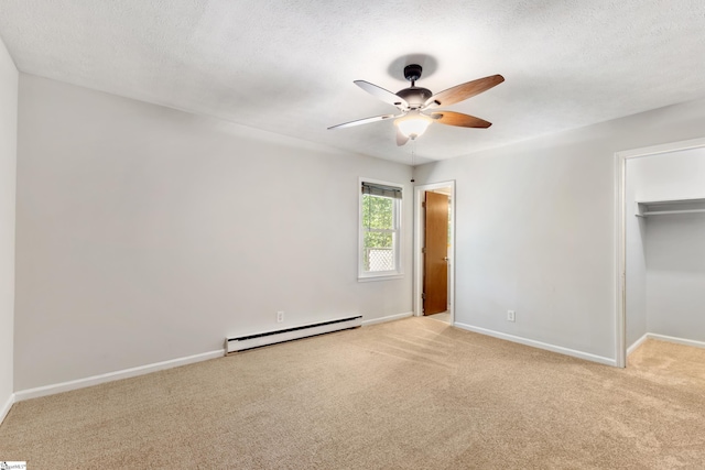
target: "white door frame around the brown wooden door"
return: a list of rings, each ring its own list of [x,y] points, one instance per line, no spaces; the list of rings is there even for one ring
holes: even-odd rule
[[[451,250],[448,251],[448,314],[451,325],[455,324],[455,179],[441,183],[431,183],[414,186],[414,285],[413,285],[413,313],[415,317],[423,316],[423,248],[424,227],[422,223],[423,195],[426,190],[451,188]]]

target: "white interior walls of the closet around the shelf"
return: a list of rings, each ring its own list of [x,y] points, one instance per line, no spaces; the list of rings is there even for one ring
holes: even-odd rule
[[[627,181],[628,198],[637,201],[705,199],[705,149],[630,159]],[[630,215],[628,221],[637,219]],[[643,256],[644,261],[644,275],[639,273],[643,334],[705,341],[705,215],[655,216],[640,223],[627,227],[633,240],[627,254],[629,260]],[[631,255],[632,249],[638,256]],[[628,276],[639,269],[628,270]],[[642,321],[642,307],[632,307],[627,304],[628,326]],[[628,338],[628,345],[633,342],[629,339],[638,338]]]

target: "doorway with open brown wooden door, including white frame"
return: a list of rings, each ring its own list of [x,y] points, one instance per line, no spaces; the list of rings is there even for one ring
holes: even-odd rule
[[[441,223],[443,218],[445,223]],[[454,324],[454,181],[420,185],[414,188],[413,292],[414,316],[426,315],[449,325]]]

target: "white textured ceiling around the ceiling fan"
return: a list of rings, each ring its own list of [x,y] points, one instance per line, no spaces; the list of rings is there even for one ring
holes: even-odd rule
[[[395,108],[352,84],[441,91],[506,81],[448,109],[487,130],[433,124],[441,160],[705,97],[702,0],[0,0],[18,68],[245,125],[410,162]]]

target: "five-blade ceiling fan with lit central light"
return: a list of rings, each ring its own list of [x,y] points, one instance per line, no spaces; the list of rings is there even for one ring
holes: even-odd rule
[[[381,99],[384,102],[395,106],[401,111],[399,114],[382,114],[372,118],[358,119],[356,121],[344,122],[328,128],[341,129],[352,125],[367,124],[369,122],[384,121],[393,119],[397,127],[397,145],[403,145],[409,139],[414,140],[423,134],[433,122],[446,125],[457,125],[462,128],[489,128],[491,122],[462,112],[435,110],[441,106],[454,105],[468,98],[479,95],[482,91],[501,84],[505,77],[491,75],[477,80],[457,85],[447,90],[433,95],[431,90],[416,86],[416,80],[421,78],[421,65],[412,64],[404,67],[404,78],[411,81],[411,87],[397,91],[395,94],[382,87],[365,80],[355,80],[355,85],[362,88],[368,94]]]

